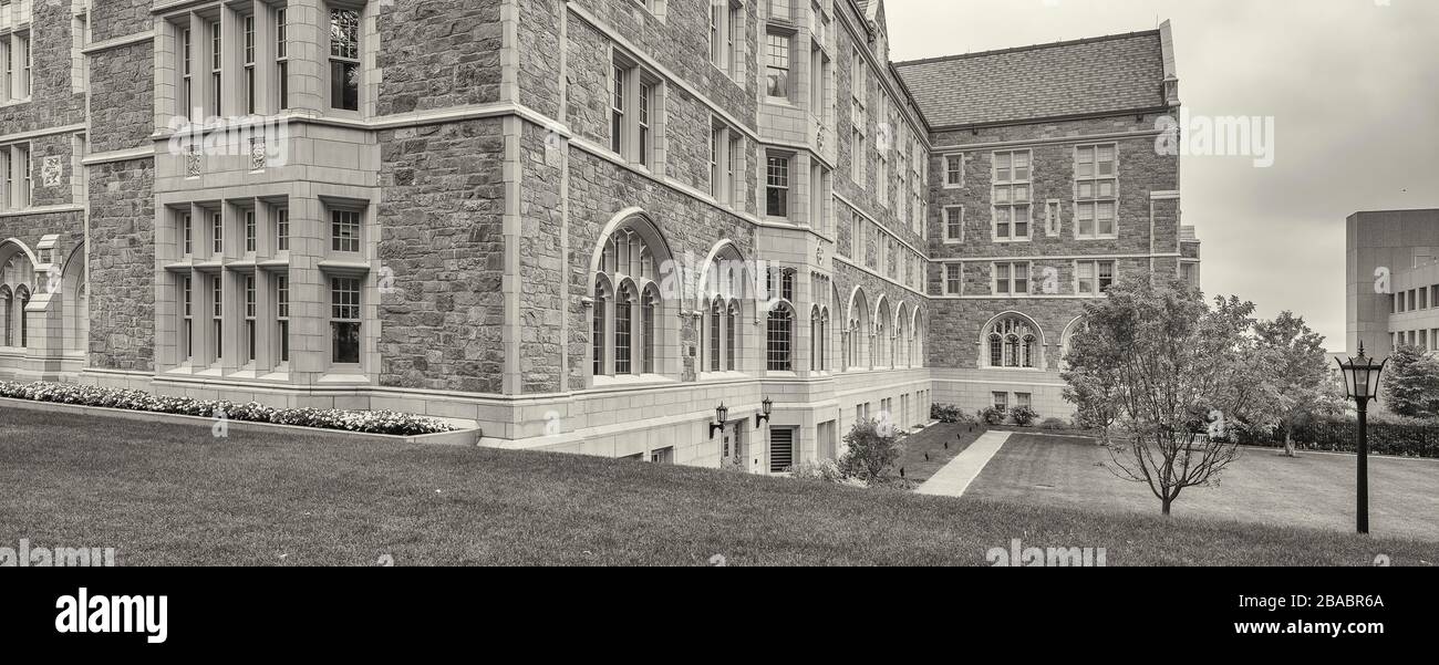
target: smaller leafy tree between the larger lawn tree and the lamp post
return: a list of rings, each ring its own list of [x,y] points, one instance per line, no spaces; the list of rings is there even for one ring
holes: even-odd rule
[[[1343,387],[1334,380],[1324,354],[1324,335],[1309,330],[1304,317],[1284,311],[1274,321],[1255,324],[1259,390],[1250,426],[1284,432],[1284,453],[1294,456],[1294,428],[1317,416],[1344,412]]]

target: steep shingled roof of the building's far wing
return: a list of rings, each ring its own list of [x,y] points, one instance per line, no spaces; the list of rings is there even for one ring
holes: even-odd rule
[[[932,128],[1164,107],[1160,30],[894,66]]]

